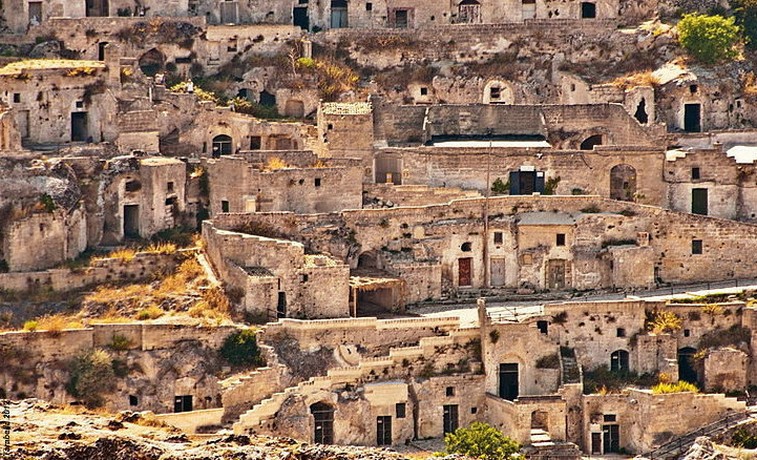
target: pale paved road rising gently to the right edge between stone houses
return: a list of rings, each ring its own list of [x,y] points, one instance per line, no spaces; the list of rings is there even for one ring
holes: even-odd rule
[[[736,282],[735,280],[726,280],[711,283],[698,283],[673,286],[668,288],[650,289],[646,291],[589,294],[580,297],[574,297],[569,300],[565,300],[563,298],[555,298],[552,300],[500,300],[487,302],[487,311],[495,321],[518,320],[527,318],[529,316],[542,314],[542,312],[544,311],[545,303],[585,300],[622,300],[638,298],[643,298],[646,300],[668,300],[706,294],[738,293],[747,289],[757,290],[757,279],[738,280],[738,282]],[[478,314],[476,313],[476,304],[474,302],[464,304],[424,305],[419,308],[414,308],[410,310],[410,312],[428,317],[459,316],[460,323],[463,327],[471,327],[478,324]]]

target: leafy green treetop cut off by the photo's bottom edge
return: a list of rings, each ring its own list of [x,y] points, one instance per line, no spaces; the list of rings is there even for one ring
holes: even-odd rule
[[[444,437],[448,454],[462,454],[483,460],[522,459],[520,445],[498,429],[473,422]]]

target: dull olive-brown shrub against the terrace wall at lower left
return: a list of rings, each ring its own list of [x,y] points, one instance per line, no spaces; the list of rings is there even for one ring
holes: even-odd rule
[[[116,386],[113,359],[105,350],[89,350],[81,353],[69,364],[71,376],[66,390],[80,398],[87,407],[103,404],[102,394]]]

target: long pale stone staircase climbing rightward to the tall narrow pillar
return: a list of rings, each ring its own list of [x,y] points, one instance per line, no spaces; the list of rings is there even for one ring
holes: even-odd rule
[[[265,422],[279,411],[281,405],[290,396],[307,397],[324,390],[330,390],[336,385],[355,385],[376,381],[382,375],[385,375],[385,369],[393,366],[404,368],[407,362],[429,356],[439,347],[465,344],[478,338],[478,334],[478,329],[457,329],[447,335],[422,337],[418,345],[391,348],[388,356],[363,358],[356,366],[330,369],[325,376],[312,377],[263,399],[239,417],[239,421],[234,423],[234,432],[244,434],[247,430],[254,431],[256,428],[263,427]]]

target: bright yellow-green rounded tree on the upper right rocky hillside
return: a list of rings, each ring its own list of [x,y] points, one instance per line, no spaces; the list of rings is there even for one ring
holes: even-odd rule
[[[678,42],[705,64],[736,57],[740,30],[734,18],[687,14],[678,23]]]

